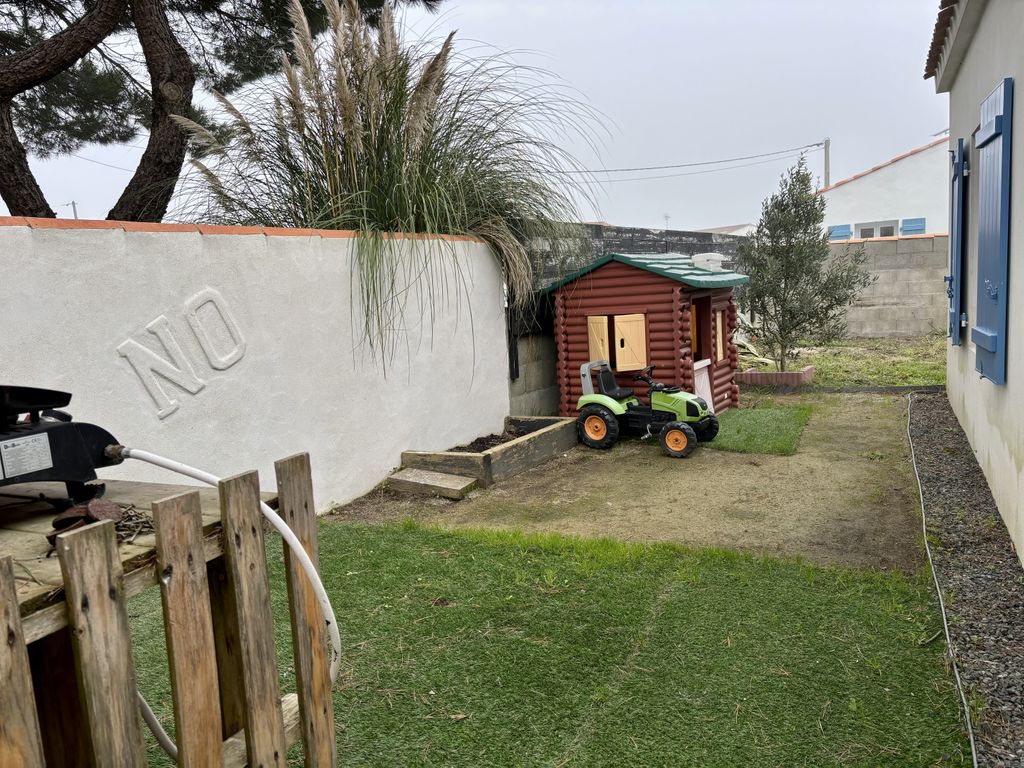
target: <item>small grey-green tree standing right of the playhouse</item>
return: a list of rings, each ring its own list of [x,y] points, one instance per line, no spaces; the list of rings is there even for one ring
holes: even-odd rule
[[[737,249],[736,268],[751,279],[742,300],[756,318],[746,330],[770,350],[779,371],[798,342],[843,338],[847,307],[874,282],[864,268],[863,248],[831,253],[824,216],[824,198],[814,194],[801,157],[764,201],[757,229]]]

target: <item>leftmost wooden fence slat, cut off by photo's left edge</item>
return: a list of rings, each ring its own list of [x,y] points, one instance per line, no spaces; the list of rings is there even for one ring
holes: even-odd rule
[[[0,559],[0,765],[42,768],[43,740],[10,557]]]

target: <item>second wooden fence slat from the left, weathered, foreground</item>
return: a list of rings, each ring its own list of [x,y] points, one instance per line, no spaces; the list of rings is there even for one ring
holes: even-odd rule
[[[124,573],[114,523],[105,520],[61,534],[56,550],[92,762],[97,768],[144,766]]]

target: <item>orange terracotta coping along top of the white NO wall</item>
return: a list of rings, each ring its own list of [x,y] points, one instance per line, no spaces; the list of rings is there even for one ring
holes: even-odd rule
[[[108,221],[106,219],[51,219],[28,216],[0,216],[0,226],[28,226],[33,229],[122,229],[128,232],[199,232],[200,234],[260,234],[268,238],[355,238],[352,229],[308,229],[281,226],[228,226],[224,224],[175,224],[148,221]],[[382,232],[385,240],[443,240],[452,243],[482,243],[468,234],[426,234]]]

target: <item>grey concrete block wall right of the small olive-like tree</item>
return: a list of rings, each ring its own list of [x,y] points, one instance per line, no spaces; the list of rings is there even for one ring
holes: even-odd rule
[[[946,328],[948,237],[852,240],[831,245],[833,253],[863,246],[867,268],[877,276],[847,313],[850,336],[926,336]]]

